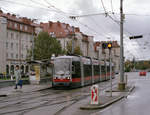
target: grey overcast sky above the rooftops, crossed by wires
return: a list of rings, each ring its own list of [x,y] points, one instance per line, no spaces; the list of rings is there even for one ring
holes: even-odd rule
[[[79,17],[71,20],[69,16],[110,12]],[[150,59],[150,0],[124,0],[124,49],[126,58]],[[61,21],[80,27],[85,34],[94,36],[95,41],[117,40],[120,42],[119,0],[0,0],[4,12],[15,13],[43,21]],[[114,12],[114,15],[111,14]],[[143,38],[129,40],[129,36],[143,35]]]

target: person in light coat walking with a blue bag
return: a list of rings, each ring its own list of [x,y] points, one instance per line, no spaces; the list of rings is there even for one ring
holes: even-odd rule
[[[19,66],[18,65],[15,68],[15,78],[16,78],[15,89],[17,89],[18,85],[20,86],[20,88],[22,88],[21,72],[19,70]]]

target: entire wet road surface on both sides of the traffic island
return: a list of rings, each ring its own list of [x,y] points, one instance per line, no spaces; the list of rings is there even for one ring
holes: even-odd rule
[[[128,73],[128,81],[136,85],[127,97],[103,110],[80,110],[90,97],[90,86],[72,90],[44,90],[0,98],[0,115],[148,115],[150,112],[150,74],[139,77]],[[113,79],[116,85],[118,79]],[[100,91],[110,88],[110,82],[98,84]]]

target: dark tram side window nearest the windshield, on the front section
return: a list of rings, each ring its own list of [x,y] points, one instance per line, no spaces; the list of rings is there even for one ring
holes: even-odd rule
[[[72,78],[79,78],[79,77],[81,77],[80,62],[73,61],[72,62]]]

